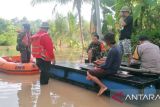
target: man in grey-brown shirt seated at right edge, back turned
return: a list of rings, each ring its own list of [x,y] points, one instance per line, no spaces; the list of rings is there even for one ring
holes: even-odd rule
[[[160,71],[160,48],[149,42],[147,36],[139,37],[133,58],[141,61],[141,69]]]

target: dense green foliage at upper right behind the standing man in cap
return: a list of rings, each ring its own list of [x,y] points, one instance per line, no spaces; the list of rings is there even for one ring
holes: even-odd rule
[[[109,1],[110,0],[101,0],[102,9],[105,11],[103,31],[105,31],[105,29],[108,30],[109,26],[115,28],[113,31],[117,31],[115,25],[112,25],[114,22],[111,21],[111,18],[106,17],[110,12],[106,11],[104,7],[112,6],[112,3],[107,3]],[[153,43],[160,46],[160,0],[113,0],[112,2],[114,2],[115,6],[112,9],[116,12],[116,23],[119,22],[119,10],[123,6],[127,5],[131,9],[131,15],[134,19],[134,32],[132,35],[133,48],[138,43],[139,35],[148,35]]]

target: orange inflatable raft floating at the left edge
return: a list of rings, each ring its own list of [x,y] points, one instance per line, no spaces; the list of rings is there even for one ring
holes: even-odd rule
[[[20,63],[20,56],[0,57],[0,71],[20,75],[39,73],[39,69],[33,61],[30,61],[30,63]]]

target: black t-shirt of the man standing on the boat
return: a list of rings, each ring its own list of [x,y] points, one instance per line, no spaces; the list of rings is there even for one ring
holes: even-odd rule
[[[128,16],[126,19],[124,19],[124,22],[126,23],[126,26],[124,26],[124,28],[121,30],[120,40],[131,39],[133,29],[133,17]]]

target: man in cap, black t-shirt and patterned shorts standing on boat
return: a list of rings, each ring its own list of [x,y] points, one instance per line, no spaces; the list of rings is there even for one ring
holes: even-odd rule
[[[122,55],[127,55],[128,57],[128,65],[131,62],[131,35],[133,29],[133,17],[130,16],[130,9],[127,6],[122,7],[120,10],[120,38],[119,45],[122,50]]]

